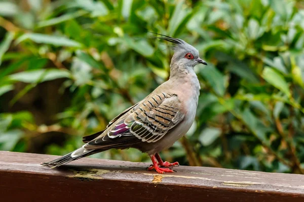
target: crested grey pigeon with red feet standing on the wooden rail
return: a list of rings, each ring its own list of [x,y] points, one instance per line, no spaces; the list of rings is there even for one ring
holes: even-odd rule
[[[161,174],[174,172],[173,167],[179,163],[164,162],[159,153],[192,126],[201,89],[194,67],[207,63],[194,46],[182,39],[159,35],[155,38],[171,42],[174,51],[169,79],[111,120],[104,130],[83,137],[82,147],[42,165],[56,168],[111,148],[132,147],[149,155],[153,164],[148,170]]]

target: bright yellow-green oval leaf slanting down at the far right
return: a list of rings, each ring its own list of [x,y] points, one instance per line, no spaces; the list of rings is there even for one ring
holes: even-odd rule
[[[288,97],[291,96],[287,82],[285,81],[284,77],[277,71],[273,70],[270,67],[265,67],[262,72],[262,77],[271,85],[283,91]]]

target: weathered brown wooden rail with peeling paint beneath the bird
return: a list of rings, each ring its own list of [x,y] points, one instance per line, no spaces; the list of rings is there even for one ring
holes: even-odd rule
[[[0,200],[304,201],[304,175],[187,166],[160,175],[147,163],[92,158],[40,165],[55,158],[0,151]]]

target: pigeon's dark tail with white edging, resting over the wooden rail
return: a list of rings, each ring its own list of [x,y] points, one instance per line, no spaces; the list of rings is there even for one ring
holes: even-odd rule
[[[52,168],[56,168],[58,166],[61,166],[63,164],[67,164],[71,161],[87,157],[89,155],[95,154],[97,152],[100,152],[100,150],[87,150],[84,147],[80,147],[79,149],[76,149],[72,151],[71,153],[64,155],[63,157],[60,157],[58,159],[55,159],[50,162],[42,163],[43,166],[52,166]]]

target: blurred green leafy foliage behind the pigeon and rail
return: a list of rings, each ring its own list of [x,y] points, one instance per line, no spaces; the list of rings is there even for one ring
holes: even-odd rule
[[[166,81],[173,52],[149,30],[208,63],[195,123],[163,158],[304,174],[303,19],[295,0],[0,1],[0,150],[69,153]]]

